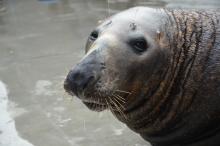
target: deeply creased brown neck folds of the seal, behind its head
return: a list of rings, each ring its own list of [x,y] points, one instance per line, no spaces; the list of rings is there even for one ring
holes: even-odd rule
[[[147,137],[169,137],[169,133],[184,127],[182,119],[189,116],[187,111],[196,98],[210,52],[216,45],[214,15],[183,10],[166,13],[168,21],[162,30],[166,32],[169,60],[155,74],[157,78],[148,81],[151,87],[139,95],[138,108],[127,113],[128,120],[121,119]]]

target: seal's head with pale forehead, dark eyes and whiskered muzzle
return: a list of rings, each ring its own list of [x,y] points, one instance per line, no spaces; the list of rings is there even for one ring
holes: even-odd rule
[[[85,57],[67,76],[66,91],[92,110],[110,108],[121,120],[125,118],[125,111],[135,108],[137,96],[143,94],[140,89],[146,90],[143,87],[151,84],[152,76],[162,73],[161,66],[167,62],[157,25],[162,16],[155,19],[158,12],[152,10],[133,8],[95,28]]]

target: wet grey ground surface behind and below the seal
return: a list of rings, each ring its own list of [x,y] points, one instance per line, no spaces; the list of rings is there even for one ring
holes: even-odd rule
[[[110,112],[89,111],[67,96],[65,75],[84,55],[90,31],[111,14],[137,5],[212,9],[220,2],[108,1],[5,1],[0,11],[0,113],[5,113],[0,114],[5,121],[0,122],[0,146],[149,146]],[[14,137],[6,138],[10,133]]]

